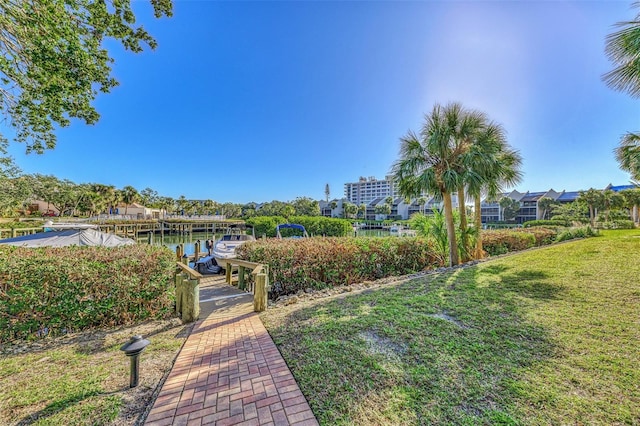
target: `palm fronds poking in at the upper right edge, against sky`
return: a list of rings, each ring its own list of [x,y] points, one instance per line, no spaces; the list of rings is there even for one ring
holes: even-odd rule
[[[634,3],[640,6],[640,2]],[[634,19],[617,24],[620,30],[607,36],[605,51],[614,69],[602,78],[614,90],[640,97],[640,13]]]

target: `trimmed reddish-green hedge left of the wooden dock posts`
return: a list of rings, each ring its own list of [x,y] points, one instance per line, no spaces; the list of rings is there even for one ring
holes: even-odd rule
[[[164,247],[0,246],[0,342],[166,317],[174,271]]]

